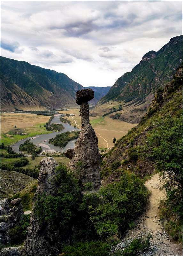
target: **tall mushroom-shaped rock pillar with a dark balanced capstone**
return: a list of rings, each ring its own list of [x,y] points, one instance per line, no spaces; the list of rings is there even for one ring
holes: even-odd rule
[[[75,143],[74,149],[68,149],[65,156],[71,159],[68,167],[76,170],[78,162],[82,165],[79,168],[82,184],[91,182],[93,190],[100,187],[100,153],[98,149],[98,138],[89,123],[88,101],[94,97],[92,89],[79,90],[76,93],[76,103],[80,105],[81,132]]]

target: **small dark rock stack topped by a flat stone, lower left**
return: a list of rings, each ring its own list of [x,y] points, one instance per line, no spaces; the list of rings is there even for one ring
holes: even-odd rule
[[[10,228],[13,228],[19,225],[21,217],[24,214],[21,200],[22,200],[21,198],[16,198],[11,201],[11,204],[13,204],[14,207],[10,209],[11,215],[7,216]]]

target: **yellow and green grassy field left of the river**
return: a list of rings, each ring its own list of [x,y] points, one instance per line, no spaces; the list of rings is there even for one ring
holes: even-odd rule
[[[1,113],[1,144],[11,145],[24,138],[50,133],[51,131],[47,131],[43,126],[49,119],[49,116],[43,115]],[[16,132],[24,135],[18,135]]]

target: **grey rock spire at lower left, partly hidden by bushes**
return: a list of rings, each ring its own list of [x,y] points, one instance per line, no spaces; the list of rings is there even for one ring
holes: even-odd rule
[[[41,224],[39,218],[34,214],[34,205],[38,195],[43,193],[51,196],[57,195],[58,188],[54,185],[53,179],[58,163],[52,157],[48,157],[42,159],[40,165],[38,188],[30,217],[30,225],[27,229],[24,255],[58,255],[59,248],[63,243],[58,223],[47,221],[45,225],[44,223]]]

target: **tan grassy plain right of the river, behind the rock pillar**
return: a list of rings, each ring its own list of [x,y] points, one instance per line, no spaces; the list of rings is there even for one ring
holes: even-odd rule
[[[118,108],[119,105],[112,107]],[[70,111],[67,111],[69,114],[75,114],[75,116],[66,117],[71,121],[72,126],[76,125],[78,128],[81,128],[81,118],[80,118],[80,108],[70,108]],[[61,112],[60,112],[61,113]],[[109,149],[114,146],[113,138],[117,140],[122,136],[126,135],[128,130],[132,129],[137,124],[130,124],[120,120],[113,120],[109,116],[90,116],[90,123],[95,130],[96,136],[98,137],[98,147],[100,149]]]

